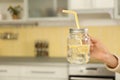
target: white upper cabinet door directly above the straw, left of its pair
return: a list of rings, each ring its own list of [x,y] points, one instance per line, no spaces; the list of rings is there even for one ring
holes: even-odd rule
[[[70,9],[90,9],[91,7],[91,0],[69,0]]]

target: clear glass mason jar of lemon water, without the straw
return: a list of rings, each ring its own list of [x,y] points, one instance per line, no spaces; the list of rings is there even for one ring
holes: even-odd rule
[[[70,63],[87,63],[90,57],[90,38],[88,36],[88,29],[70,29],[67,46],[67,60]]]

